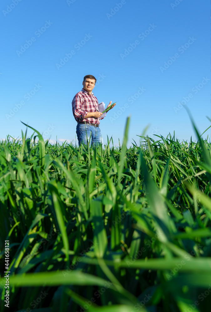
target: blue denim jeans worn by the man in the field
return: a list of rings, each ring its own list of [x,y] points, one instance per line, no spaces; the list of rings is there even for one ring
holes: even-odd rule
[[[87,144],[87,138],[89,140],[90,134],[92,137],[91,145],[95,146],[97,143],[103,144],[103,139],[99,127],[78,123],[76,127],[76,134],[78,137],[78,145],[81,145],[81,143]]]

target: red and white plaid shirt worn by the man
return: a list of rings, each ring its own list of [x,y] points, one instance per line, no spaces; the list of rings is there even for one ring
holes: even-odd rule
[[[87,113],[96,112],[98,110],[98,99],[93,95],[93,92],[90,95],[89,92],[84,89],[76,93],[74,96],[72,101],[72,108],[73,116],[77,122],[86,121],[87,123],[91,124],[99,124],[99,119],[104,118],[89,117],[84,119]]]

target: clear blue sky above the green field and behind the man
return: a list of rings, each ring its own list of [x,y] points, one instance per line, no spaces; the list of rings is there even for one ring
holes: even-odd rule
[[[154,138],[195,139],[178,102],[200,133],[209,127],[210,1],[180,1],[1,1],[0,138],[20,136],[22,120],[44,139],[75,141],[71,102],[91,74],[98,102],[117,101],[100,123],[104,142],[122,142],[129,115],[128,143],[147,125]]]

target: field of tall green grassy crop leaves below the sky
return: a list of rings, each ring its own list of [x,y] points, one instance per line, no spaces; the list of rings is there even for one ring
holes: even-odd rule
[[[118,147],[0,143],[1,312],[210,311],[211,144],[128,148],[128,127]]]

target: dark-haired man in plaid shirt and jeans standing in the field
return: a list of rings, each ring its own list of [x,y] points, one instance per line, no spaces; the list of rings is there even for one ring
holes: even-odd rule
[[[97,79],[92,75],[87,75],[83,78],[83,89],[78,92],[72,101],[73,115],[78,122],[76,133],[78,137],[78,144],[87,144],[87,138],[92,136],[92,145],[103,143],[101,132],[99,128],[100,116],[103,113],[98,112],[98,99],[93,95]],[[111,106],[112,101],[108,104],[107,108]],[[116,104],[111,106],[111,109]]]

